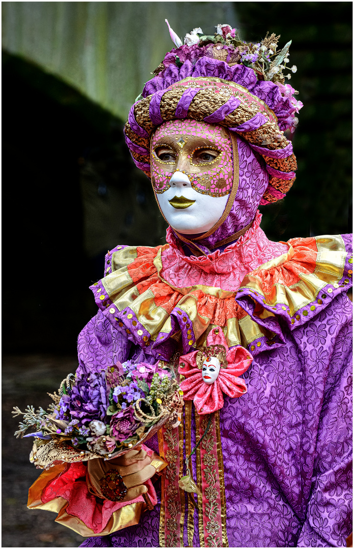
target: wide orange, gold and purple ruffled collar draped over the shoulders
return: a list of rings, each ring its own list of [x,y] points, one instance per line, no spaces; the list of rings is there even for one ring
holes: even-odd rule
[[[231,250],[245,248],[246,255],[258,231],[259,227],[245,234]],[[188,277],[184,285],[168,282],[162,275],[162,258],[169,248],[171,244],[118,246],[107,255],[106,276],[91,286],[103,317],[120,332],[119,337],[128,338],[154,360],[170,360],[176,348],[183,354],[197,349],[215,326],[222,328],[229,348],[242,345],[253,356],[269,346],[284,345],[286,327],[294,330],[312,320],[352,281],[346,236],[291,239],[286,253],[257,264],[235,291],[223,285],[193,284]],[[224,254],[211,255],[220,259]],[[180,272],[198,267],[198,276],[208,275],[199,267],[208,257],[185,259],[194,263],[180,262]],[[232,265],[222,269],[223,276],[232,275]],[[212,277],[217,276],[214,271]]]

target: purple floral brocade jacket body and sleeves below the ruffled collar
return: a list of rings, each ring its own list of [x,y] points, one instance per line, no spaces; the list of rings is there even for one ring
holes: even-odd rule
[[[307,290],[301,290],[306,307],[297,307],[294,322],[291,310],[283,306],[279,312],[274,302],[268,307],[262,293],[252,293],[251,283],[242,283],[237,292],[237,304],[263,330],[262,334],[264,329],[272,331],[274,344],[268,341],[266,345],[264,335],[259,333],[253,341],[241,338],[254,359],[242,375],[247,393],[237,399],[225,396],[220,410],[226,496],[222,512],[226,514],[229,547],[340,547],[346,545],[351,533],[352,304],[347,290],[352,255],[348,251],[349,236],[342,236],[341,242],[347,253],[344,251],[344,259],[339,262],[341,271],[336,281],[323,277],[322,289],[316,290],[312,298]],[[132,253],[129,261],[135,258]],[[116,261],[113,266],[113,250],[107,256],[108,271],[120,268],[123,272],[129,261],[121,266]],[[327,265],[331,262],[325,254],[318,264],[321,261]],[[277,266],[274,269],[279,271]],[[332,271],[329,267],[324,272]],[[133,277],[132,271],[130,274]],[[96,288],[92,287],[94,292]],[[284,295],[288,295],[285,283],[284,288]],[[123,309],[115,318],[116,324],[110,321],[113,294],[114,290],[107,311],[101,302],[96,317],[79,336],[79,372],[96,371],[128,358],[154,363],[163,352],[163,348],[157,353],[153,345],[145,348],[137,343],[122,324],[123,316],[119,315],[124,314]],[[121,294],[115,295],[119,298]],[[264,306],[268,316],[257,313],[258,304]],[[125,301],[125,312],[128,309]],[[242,320],[240,326],[244,326]],[[193,417],[192,413],[192,447]],[[157,436],[148,441],[148,446],[159,453]],[[196,478],[196,461],[192,468]],[[161,490],[159,483],[155,486],[158,504],[142,514],[139,524],[107,536],[89,537],[81,547],[158,547]],[[193,520],[192,545],[200,547],[197,511]],[[187,530],[185,517],[173,546],[188,546]],[[221,546],[220,542],[216,546]]]

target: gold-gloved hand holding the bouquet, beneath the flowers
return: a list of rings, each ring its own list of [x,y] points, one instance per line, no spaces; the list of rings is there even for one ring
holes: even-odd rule
[[[101,480],[109,470],[115,469],[123,477],[123,482],[128,488],[128,492],[120,501],[134,500],[147,492],[147,486],[144,483],[156,473],[156,468],[151,465],[152,460],[153,457],[148,456],[141,446],[113,460],[105,461],[101,458],[89,460],[86,475],[89,490],[96,496],[106,499],[102,494]]]

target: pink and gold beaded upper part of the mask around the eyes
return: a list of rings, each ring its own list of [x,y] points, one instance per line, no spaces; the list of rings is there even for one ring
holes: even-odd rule
[[[156,149],[165,147],[173,158],[163,161]],[[197,155],[200,149],[218,152],[214,160],[202,162]],[[156,193],[170,187],[169,181],[176,171],[188,176],[191,186],[201,194],[223,197],[233,186],[233,148],[228,131],[222,126],[196,120],[172,120],[164,122],[151,141],[151,175]]]

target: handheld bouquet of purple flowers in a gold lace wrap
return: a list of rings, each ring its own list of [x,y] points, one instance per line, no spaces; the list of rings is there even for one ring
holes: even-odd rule
[[[149,439],[170,420],[180,423],[182,391],[173,369],[130,361],[100,372],[73,374],[60,384],[48,411],[27,406],[17,437],[34,436],[30,461],[47,469],[58,461],[74,463],[120,456]],[[27,429],[36,429],[26,433]]]

